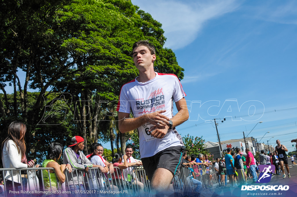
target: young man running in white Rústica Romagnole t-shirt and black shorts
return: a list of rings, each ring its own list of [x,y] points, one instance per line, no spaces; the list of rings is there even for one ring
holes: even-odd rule
[[[154,71],[155,47],[149,41],[135,42],[132,55],[139,76],[121,88],[119,130],[138,129],[143,168],[151,187],[163,192],[178,171],[185,150],[175,127],[189,118],[186,94],[174,74]],[[173,116],[174,103],[178,112]]]

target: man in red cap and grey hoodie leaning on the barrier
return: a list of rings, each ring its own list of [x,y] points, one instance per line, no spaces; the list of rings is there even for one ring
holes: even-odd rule
[[[82,151],[85,145],[84,139],[82,137],[74,136],[72,137],[71,142],[71,145],[64,150],[63,163],[69,163],[72,168],[84,169],[86,172],[91,167],[99,167],[97,165],[93,165],[83,154]],[[77,171],[77,173],[72,173],[73,177],[70,173],[65,174],[67,175],[69,180],[69,182],[66,182],[66,186],[68,186],[70,190],[84,190],[82,176],[83,173]]]

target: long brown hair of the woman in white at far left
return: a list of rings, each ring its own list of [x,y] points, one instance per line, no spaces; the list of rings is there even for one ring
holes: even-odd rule
[[[13,121],[10,123],[8,127],[8,133],[6,139],[2,142],[2,151],[4,148],[5,142],[8,140],[12,140],[18,149],[18,153],[21,152],[22,158],[25,156],[26,153],[26,144],[25,144],[25,133],[27,131],[27,127],[24,123],[20,121]],[[7,146],[7,144],[6,144]]]

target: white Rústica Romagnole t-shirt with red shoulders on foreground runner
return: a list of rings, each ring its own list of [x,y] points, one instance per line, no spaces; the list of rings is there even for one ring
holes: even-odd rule
[[[173,103],[185,96],[176,75],[156,72],[156,76],[147,82],[138,82],[136,78],[123,85],[117,111],[130,113],[132,110],[134,117],[139,117],[165,109],[166,112],[162,114],[171,119]],[[147,122],[138,128],[141,158],[151,157],[169,147],[184,146],[175,128],[168,130],[162,139],[157,139],[148,131],[152,126]]]

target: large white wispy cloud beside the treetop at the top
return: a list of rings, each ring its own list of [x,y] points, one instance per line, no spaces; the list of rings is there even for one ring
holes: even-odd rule
[[[237,1],[170,1],[132,0],[140,9],[149,12],[162,23],[167,42],[165,47],[178,49],[193,42],[203,25],[213,18],[234,11]]]

